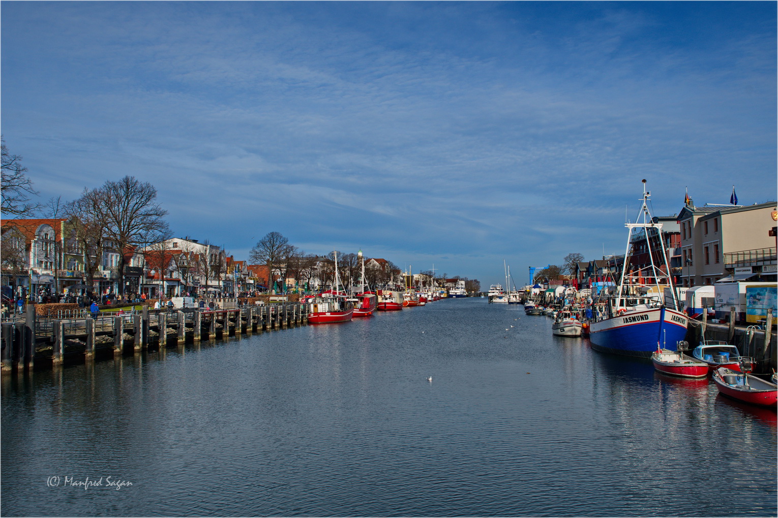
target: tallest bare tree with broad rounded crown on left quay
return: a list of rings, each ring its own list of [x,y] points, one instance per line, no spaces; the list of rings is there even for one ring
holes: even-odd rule
[[[106,217],[106,235],[119,253],[119,290],[124,293],[124,249],[142,244],[150,233],[166,234],[168,227],[163,218],[167,210],[156,203],[154,186],[133,176],[124,176],[117,182],[109,180],[94,191]]]

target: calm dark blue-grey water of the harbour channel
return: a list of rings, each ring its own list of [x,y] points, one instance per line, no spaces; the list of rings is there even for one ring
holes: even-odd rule
[[[2,389],[4,516],[776,516],[775,412],[480,298]]]

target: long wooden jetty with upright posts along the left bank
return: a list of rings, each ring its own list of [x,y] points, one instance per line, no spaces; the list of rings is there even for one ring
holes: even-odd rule
[[[211,339],[239,338],[307,324],[307,305],[279,303],[226,309],[190,308],[101,314],[97,318],[25,318],[2,322],[2,374],[83,363],[96,355],[134,354]]]

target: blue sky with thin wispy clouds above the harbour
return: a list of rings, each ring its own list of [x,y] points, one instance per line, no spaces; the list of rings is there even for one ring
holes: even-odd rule
[[[2,2],[41,200],[135,176],[178,237],[520,283],[654,213],[776,200],[775,2]],[[627,210],[626,210],[627,209]]]

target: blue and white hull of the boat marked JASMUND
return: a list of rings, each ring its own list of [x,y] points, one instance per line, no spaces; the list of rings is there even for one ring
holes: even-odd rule
[[[592,349],[625,356],[650,358],[657,346],[675,350],[686,335],[688,318],[679,311],[654,308],[630,311],[590,325]]]

